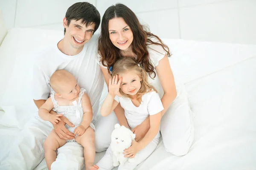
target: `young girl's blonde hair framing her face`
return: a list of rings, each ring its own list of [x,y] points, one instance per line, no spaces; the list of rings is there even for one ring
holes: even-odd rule
[[[112,69],[112,78],[113,76],[125,73],[126,71],[136,71],[138,74],[138,76],[142,79],[140,81],[141,83],[141,87],[140,90],[137,92],[137,99],[139,99],[141,96],[143,96],[144,94],[150,92],[150,91],[156,91],[157,90],[148,84],[148,75],[147,72],[144,70],[143,67],[141,67],[136,60],[133,57],[123,57],[121,59],[119,59],[113,66]],[[119,89],[119,92],[122,96],[130,98],[131,96],[128,94],[125,94],[122,89]]]

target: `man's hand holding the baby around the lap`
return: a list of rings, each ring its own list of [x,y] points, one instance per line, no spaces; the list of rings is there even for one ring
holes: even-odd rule
[[[52,112],[53,111],[51,111],[51,113]],[[57,113],[55,113],[55,114],[57,114]],[[73,133],[68,131],[67,128],[65,127],[66,124],[71,127],[74,127],[75,125],[73,125],[65,116],[61,116],[59,118],[61,119],[61,121],[59,121],[57,124],[52,124],[53,128],[54,128],[55,132],[58,134],[58,136],[61,139],[66,139],[66,140],[75,139],[76,135],[74,135]]]

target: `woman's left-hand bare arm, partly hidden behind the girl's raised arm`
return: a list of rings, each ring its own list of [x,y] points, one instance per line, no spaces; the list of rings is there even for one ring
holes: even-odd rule
[[[107,83],[107,86],[109,85],[109,79],[111,78],[111,75],[108,74],[108,69],[107,68],[103,68],[100,67],[102,70],[102,74],[104,76],[105,82]],[[121,107],[120,104],[118,104],[116,106],[116,108],[114,108],[112,111],[115,112],[117,119],[119,120],[119,124],[122,126],[125,126],[127,128],[130,128],[127,122],[127,119],[125,117],[125,111],[124,109]]]

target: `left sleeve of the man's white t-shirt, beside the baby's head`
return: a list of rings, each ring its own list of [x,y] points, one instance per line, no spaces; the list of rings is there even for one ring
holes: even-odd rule
[[[32,96],[35,100],[47,100],[51,91],[49,83],[49,77],[44,74],[44,71],[38,64],[34,65],[33,72],[33,88]]]

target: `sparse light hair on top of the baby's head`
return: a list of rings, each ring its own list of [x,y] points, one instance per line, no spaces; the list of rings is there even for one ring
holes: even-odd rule
[[[76,78],[70,72],[66,70],[57,70],[50,77],[50,85],[56,93],[60,94],[61,87],[73,79],[76,80]]]

